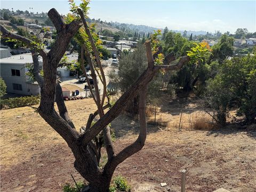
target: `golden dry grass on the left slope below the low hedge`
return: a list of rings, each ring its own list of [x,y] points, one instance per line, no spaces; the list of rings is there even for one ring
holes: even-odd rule
[[[77,130],[86,124],[89,114],[97,110],[93,99],[65,103]],[[56,105],[55,109],[58,110]],[[52,145],[65,143],[60,135],[35,112],[35,109],[30,107],[6,109],[0,111],[0,116],[1,165],[10,166],[20,161],[28,161],[33,154],[44,149],[49,143]]]

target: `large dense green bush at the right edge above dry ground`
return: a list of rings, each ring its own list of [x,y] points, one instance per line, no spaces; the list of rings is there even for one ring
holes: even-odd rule
[[[225,60],[219,73],[207,81],[205,101],[217,111],[220,124],[226,124],[231,108],[238,108],[237,115],[245,116],[247,123],[256,118],[256,48],[254,55]]]

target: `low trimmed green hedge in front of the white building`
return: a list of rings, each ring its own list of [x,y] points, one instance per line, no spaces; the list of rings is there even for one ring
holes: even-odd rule
[[[4,99],[1,100],[1,108],[7,107],[7,108],[17,108],[17,107],[25,107],[25,106],[31,106],[36,105],[40,102],[40,96],[26,96],[26,97],[20,97],[20,98],[10,98],[10,99]]]

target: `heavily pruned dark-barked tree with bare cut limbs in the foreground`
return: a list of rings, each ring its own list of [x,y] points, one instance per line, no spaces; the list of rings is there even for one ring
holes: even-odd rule
[[[57,37],[55,44],[52,46],[50,52],[46,53],[40,44],[32,42],[30,39],[19,36],[17,34],[10,33],[6,28],[1,25],[1,32],[3,37],[9,37],[17,39],[31,47],[32,57],[34,61],[33,74],[41,87],[41,102],[37,109],[38,113],[44,118],[44,120],[55,130],[61,137],[67,142],[71,151],[74,154],[75,169],[87,180],[90,184],[87,187],[87,191],[108,191],[112,175],[116,167],[122,163],[126,158],[137,153],[145,144],[147,137],[147,123],[146,123],[146,97],[147,87],[151,79],[158,73],[159,70],[177,70],[180,69],[183,64],[189,61],[189,57],[181,57],[179,61],[175,62],[175,65],[169,65],[174,60],[173,57],[166,57],[162,64],[156,65],[155,62],[158,52],[151,50],[151,43],[148,40],[146,45],[148,67],[140,75],[140,77],[133,83],[129,89],[116,101],[116,103],[108,109],[108,97],[106,92],[106,78],[101,66],[100,57],[97,47],[92,38],[91,31],[87,25],[83,11],[77,9],[81,18],[77,18],[66,24],[61,15],[55,10],[51,9],[48,12],[48,16],[51,19],[54,27],[57,29]],[[73,122],[69,118],[65,102],[62,98],[61,87],[57,81],[57,67],[59,62],[65,53],[70,39],[77,33],[77,30],[81,27],[81,20],[84,25],[84,29],[88,36],[90,47],[86,44],[82,46],[82,52],[85,52],[86,59],[91,67],[92,78],[94,82],[97,82],[96,74],[99,75],[100,81],[103,84],[103,94],[100,95],[99,87],[97,83],[95,85],[95,92],[92,92],[89,79],[86,76],[85,69],[82,66],[86,80],[92,93],[93,100],[98,107],[98,110],[90,114],[87,124],[82,127],[78,132]],[[43,70],[44,76],[39,73],[38,55],[43,58]],[[82,56],[83,54],[81,54]],[[95,57],[95,59],[94,59]],[[83,60],[83,56],[81,58]],[[166,64],[166,65],[165,65]],[[139,63],[138,63],[139,65]],[[140,121],[140,133],[137,140],[131,145],[125,147],[123,150],[116,153],[113,142],[111,141],[110,129],[108,124],[111,123],[124,109],[127,102],[139,95],[139,121]],[[54,109],[54,98],[57,103],[59,114]],[[107,98],[107,99],[106,99]],[[107,102],[106,102],[107,101]],[[108,110],[107,110],[108,109]],[[99,115],[99,119],[92,125],[93,119]],[[101,169],[99,167],[100,149],[102,147],[102,140],[98,135],[103,135],[105,147],[107,150],[108,161]]]

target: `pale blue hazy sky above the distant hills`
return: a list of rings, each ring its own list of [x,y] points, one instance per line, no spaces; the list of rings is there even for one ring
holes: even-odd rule
[[[76,1],[77,4],[79,1]],[[68,1],[1,0],[1,9],[60,13],[69,11]],[[205,30],[234,33],[237,28],[256,31],[256,1],[91,1],[90,18],[147,25],[172,30]]]

